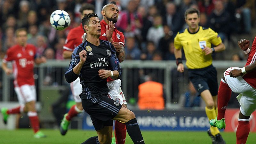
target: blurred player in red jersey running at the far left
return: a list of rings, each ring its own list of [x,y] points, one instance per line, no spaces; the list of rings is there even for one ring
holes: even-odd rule
[[[7,50],[4,57],[2,68],[7,75],[14,75],[14,90],[18,96],[20,106],[17,108],[2,108],[1,113],[4,117],[4,123],[7,123],[10,114],[27,112],[31,127],[34,130],[35,138],[45,137],[44,133],[39,131],[39,118],[36,112],[36,87],[34,76],[34,63],[40,64],[46,62],[45,57],[37,57],[36,47],[27,44],[27,31],[20,28],[16,30],[18,44]],[[7,62],[12,61],[12,69],[7,67]]]

